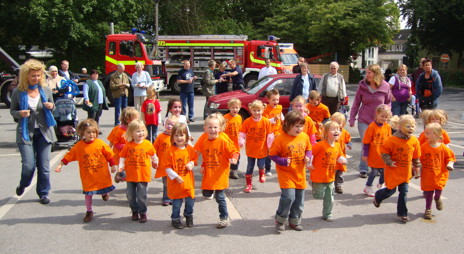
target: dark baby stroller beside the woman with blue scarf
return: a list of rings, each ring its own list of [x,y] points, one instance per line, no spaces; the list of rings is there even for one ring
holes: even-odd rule
[[[69,148],[78,141],[76,133],[77,127],[77,110],[76,104],[72,99],[59,99],[55,102],[55,111],[53,117],[56,120],[56,138],[58,141],[54,148]]]

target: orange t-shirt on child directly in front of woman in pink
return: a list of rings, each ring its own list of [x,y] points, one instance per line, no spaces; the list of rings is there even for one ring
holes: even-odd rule
[[[380,156],[380,146],[391,137],[391,127],[388,123],[378,126],[374,121],[367,126],[363,144],[369,144],[367,165],[372,168],[385,168],[385,162]]]

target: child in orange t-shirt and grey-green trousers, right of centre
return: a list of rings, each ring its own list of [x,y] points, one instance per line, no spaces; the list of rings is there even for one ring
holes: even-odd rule
[[[337,140],[340,138],[340,125],[328,121],[323,126],[324,137],[313,147],[313,161],[309,166],[313,197],[323,199],[322,219],[333,221],[335,166],[346,165],[346,158]]]

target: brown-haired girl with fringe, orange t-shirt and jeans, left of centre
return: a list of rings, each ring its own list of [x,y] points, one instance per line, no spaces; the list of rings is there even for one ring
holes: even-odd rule
[[[172,226],[184,228],[180,217],[180,208],[185,199],[184,216],[187,227],[193,227],[193,205],[195,203],[195,179],[193,166],[197,163],[197,154],[188,144],[189,136],[185,123],[176,123],[172,127],[171,146],[161,159],[168,177],[168,196],[172,199]],[[160,163],[161,165],[161,163]]]

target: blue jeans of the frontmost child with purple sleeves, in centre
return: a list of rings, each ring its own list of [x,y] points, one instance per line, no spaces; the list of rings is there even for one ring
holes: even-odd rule
[[[285,223],[287,218],[293,225],[301,224],[301,214],[304,208],[304,189],[280,189],[279,207],[276,211],[275,219],[280,223]]]

